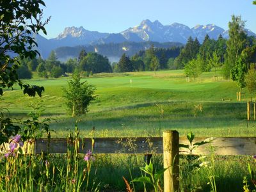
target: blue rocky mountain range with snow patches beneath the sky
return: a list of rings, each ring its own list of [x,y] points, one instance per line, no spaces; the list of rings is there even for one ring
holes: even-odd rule
[[[250,29],[245,29],[249,36],[256,36]],[[199,42],[204,41],[205,35],[215,40],[222,35],[228,38],[228,31],[215,24],[197,25],[189,28],[184,24],[173,23],[163,25],[158,20],[151,22],[146,19],[140,25],[126,29],[120,33],[100,33],[98,31],[88,31],[83,27],[65,28],[56,38],[47,39],[41,35],[36,35],[38,51],[43,58],[47,58],[49,53],[58,47],[74,47],[77,45],[99,45],[99,44],[120,44],[124,42],[179,42],[186,44],[189,36],[198,38]],[[124,50],[125,52],[125,50]]]

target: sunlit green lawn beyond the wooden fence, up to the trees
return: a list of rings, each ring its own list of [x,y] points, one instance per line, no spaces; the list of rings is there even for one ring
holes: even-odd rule
[[[65,137],[76,120],[82,136],[95,127],[95,136],[159,136],[163,129],[189,131],[196,136],[255,136],[254,122],[246,120],[247,93],[236,101],[236,83],[205,72],[198,82],[187,82],[182,70],[95,74],[83,79],[97,87],[97,99],[87,115],[71,118],[61,97],[68,77],[26,81],[45,87],[42,99],[24,96],[19,88],[4,93],[1,107],[17,118],[26,115],[30,102],[42,102],[51,116],[53,137]],[[245,91],[244,91],[245,92]],[[224,99],[224,101],[223,101]],[[229,101],[231,99],[231,101]],[[201,105],[202,111],[195,110]]]

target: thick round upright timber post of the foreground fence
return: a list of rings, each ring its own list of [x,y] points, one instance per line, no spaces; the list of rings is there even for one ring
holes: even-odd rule
[[[179,190],[179,132],[167,130],[163,132],[164,192]]]

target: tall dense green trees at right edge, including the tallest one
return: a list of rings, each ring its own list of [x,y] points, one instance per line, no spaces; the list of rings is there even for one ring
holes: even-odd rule
[[[241,16],[232,15],[228,22],[228,40],[219,36],[218,40],[205,36],[200,44],[189,37],[187,44],[173,62],[173,68],[184,68],[186,76],[198,77],[202,72],[221,68],[223,77],[236,81],[240,88],[246,84],[248,70],[255,70],[256,39],[248,36]]]

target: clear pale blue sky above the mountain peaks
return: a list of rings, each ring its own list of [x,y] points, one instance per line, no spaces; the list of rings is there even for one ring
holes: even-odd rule
[[[51,16],[46,38],[56,38],[66,27],[119,33],[144,19],[164,25],[178,22],[193,28],[216,24],[228,29],[231,15],[241,15],[246,28],[256,33],[253,0],[44,0],[44,20]]]

